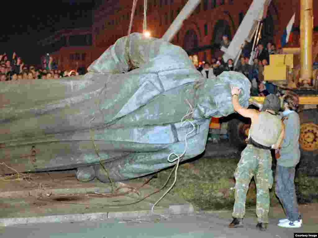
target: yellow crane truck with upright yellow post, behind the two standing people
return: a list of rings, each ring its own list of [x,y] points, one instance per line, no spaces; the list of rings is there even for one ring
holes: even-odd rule
[[[302,158],[318,154],[318,69],[313,60],[318,45],[313,46],[313,0],[300,0],[300,48],[283,48],[282,54],[270,55],[270,65],[264,67],[264,80],[281,91],[293,90],[300,98],[300,147]],[[264,97],[252,97],[263,102]],[[244,146],[250,122],[236,116],[228,123],[228,136],[237,146]]]

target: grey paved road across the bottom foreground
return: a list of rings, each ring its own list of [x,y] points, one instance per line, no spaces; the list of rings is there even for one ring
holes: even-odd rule
[[[223,217],[222,217],[223,216]],[[226,218],[224,217],[226,216]],[[257,237],[257,238],[291,238],[294,232],[302,232],[302,228],[279,228],[276,221],[270,221],[267,231],[255,228],[256,219],[245,220],[244,228],[228,228],[231,221],[227,215],[218,213],[195,215],[174,215],[166,218],[151,216],[140,218],[147,223],[137,223],[135,220],[107,220],[99,222],[51,223],[36,225],[20,225],[6,227],[0,230],[0,236],[5,238],[113,238],[113,237]],[[155,222],[153,222],[155,221]]]

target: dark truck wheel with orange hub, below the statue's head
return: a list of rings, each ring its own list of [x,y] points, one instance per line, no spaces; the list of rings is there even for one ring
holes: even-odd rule
[[[250,127],[251,120],[249,118],[244,118],[243,116],[236,114],[235,117],[229,121],[227,126],[231,144],[238,149],[244,149],[247,145],[246,139]]]

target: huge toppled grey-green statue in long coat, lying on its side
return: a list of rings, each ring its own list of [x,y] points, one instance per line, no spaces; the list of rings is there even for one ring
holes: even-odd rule
[[[151,174],[172,165],[170,153],[183,153],[192,125],[181,120],[191,107],[195,129],[183,159],[204,151],[211,116],[234,112],[231,84],[247,107],[244,75],[205,79],[182,48],[134,33],[84,76],[1,82],[0,156],[19,172],[79,168],[90,173],[83,181],[108,181],[100,163],[115,181]]]

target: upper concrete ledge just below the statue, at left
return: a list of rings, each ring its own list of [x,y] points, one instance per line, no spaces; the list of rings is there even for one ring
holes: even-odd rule
[[[110,188],[92,187],[92,188],[57,188],[57,189],[32,189],[30,191],[8,191],[0,192],[0,198],[21,198],[30,196],[39,196],[40,194],[86,194],[86,193],[109,193]]]

